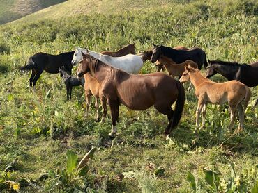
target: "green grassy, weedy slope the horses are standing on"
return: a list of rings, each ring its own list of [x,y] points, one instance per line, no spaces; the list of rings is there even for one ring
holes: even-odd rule
[[[19,67],[38,51],[56,54],[77,46],[116,50],[135,42],[138,53],[155,43],[198,46],[210,60],[257,60],[255,1],[150,1],[141,8],[132,3],[132,10],[121,11],[128,2],[117,1],[118,11],[109,14],[112,3],[103,13],[75,12],[73,17],[60,18],[63,13],[56,10],[56,17],[33,22],[38,12],[19,24],[1,26],[1,192],[257,192],[258,110],[252,108],[258,97],[256,87],[243,133],[228,133],[227,106],[211,105],[206,129],[197,132],[197,99],[191,90],[181,122],[169,138],[163,135],[167,118],[154,108],[128,112],[124,106],[119,108],[119,135],[110,138],[110,115],[105,123],[96,122],[92,103],[90,115],[84,117],[82,87],[66,101],[57,74],[44,72],[37,92],[29,91],[29,72]],[[95,3],[107,5],[107,1]],[[66,10],[77,10],[76,5],[74,1],[74,7]],[[54,14],[50,12],[41,18]],[[155,70],[148,61],[142,74]],[[216,75],[213,81],[225,79]],[[85,172],[77,172],[77,160],[92,146],[97,151]]]

